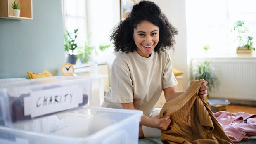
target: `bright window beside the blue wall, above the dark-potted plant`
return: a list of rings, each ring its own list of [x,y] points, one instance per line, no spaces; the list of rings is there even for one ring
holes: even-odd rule
[[[86,0],[63,0],[63,24],[69,32],[78,28],[78,44],[83,45],[87,31]]]

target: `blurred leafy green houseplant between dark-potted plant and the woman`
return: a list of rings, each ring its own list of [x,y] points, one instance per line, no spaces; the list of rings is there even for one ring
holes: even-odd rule
[[[78,48],[77,58],[80,59],[82,63],[88,63],[90,61],[90,59],[92,58],[93,51],[95,51],[95,53],[97,54],[96,48],[91,45],[90,37],[91,37],[91,34],[88,35],[88,38],[85,41],[84,47]],[[98,48],[100,51],[104,51],[110,46],[111,45],[108,45],[108,44],[100,44]]]

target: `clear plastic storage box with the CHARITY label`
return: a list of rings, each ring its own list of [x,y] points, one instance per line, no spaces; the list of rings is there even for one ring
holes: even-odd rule
[[[92,79],[55,76],[0,84],[0,125],[88,105]]]

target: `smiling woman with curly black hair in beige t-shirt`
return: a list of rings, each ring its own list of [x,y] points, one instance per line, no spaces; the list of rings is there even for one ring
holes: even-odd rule
[[[166,101],[183,94],[175,90],[178,82],[167,51],[174,47],[177,33],[155,3],[141,1],[111,34],[118,55],[102,106],[143,111],[139,138],[160,137],[171,123],[169,116],[160,118],[160,110],[154,109],[162,90]],[[206,84],[199,90],[202,98],[207,95]]]

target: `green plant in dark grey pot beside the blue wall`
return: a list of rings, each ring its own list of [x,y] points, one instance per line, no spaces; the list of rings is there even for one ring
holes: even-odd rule
[[[70,64],[76,64],[76,55],[74,54],[74,50],[77,48],[77,31],[78,29],[75,29],[74,33],[69,33],[67,30],[65,30],[64,34],[64,47],[66,53],[68,54],[67,62]]]

